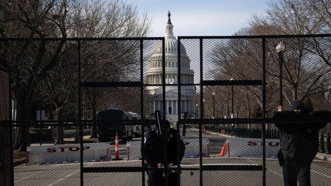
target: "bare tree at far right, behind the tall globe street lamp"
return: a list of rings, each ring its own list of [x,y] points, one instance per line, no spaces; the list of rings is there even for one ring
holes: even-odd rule
[[[325,28],[325,16],[318,16],[316,8],[312,5],[327,7],[325,1],[299,1],[284,0],[271,1],[266,10],[267,16],[260,17],[253,15],[251,28],[253,34],[273,35],[273,34],[318,34]],[[324,7],[324,8],[325,8]],[[324,12],[325,13],[325,12]],[[323,14],[326,15],[326,14]],[[268,75],[277,82],[279,78],[278,58],[275,53],[275,46],[280,40],[269,40],[267,43],[267,64],[269,66]],[[312,62],[325,62],[329,65],[329,56],[326,48],[330,45],[329,38],[297,38],[286,39],[286,51],[284,52],[285,67],[285,89],[283,94],[288,104],[293,99],[305,99],[311,95],[319,93],[321,90],[319,82],[327,81],[330,68],[325,65],[314,65]],[[328,91],[325,87],[322,92]]]

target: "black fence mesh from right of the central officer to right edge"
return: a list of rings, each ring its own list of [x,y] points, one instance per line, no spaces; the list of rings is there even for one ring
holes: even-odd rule
[[[277,49],[276,47],[281,41],[285,49],[278,51],[279,47]],[[302,184],[302,180],[306,179],[302,177],[309,177],[307,172],[311,172],[312,185],[331,183],[329,177],[320,171],[325,169],[321,166],[327,167],[328,163],[319,161],[327,160],[329,157],[317,153],[317,148],[324,148],[324,141],[328,140],[325,135],[330,125],[328,123],[325,126],[328,120],[324,119],[317,124],[306,122],[307,124],[301,126],[298,122],[297,124],[280,122],[278,125],[254,122],[254,119],[259,118],[274,118],[274,113],[277,111],[290,113],[290,115],[284,114],[285,117],[291,116],[293,112],[286,111],[291,110],[293,100],[304,102],[306,110],[302,109],[302,113],[304,112],[302,115],[307,115],[307,119],[314,120],[315,117],[323,120],[330,117],[331,66],[328,50],[323,52],[329,45],[328,37],[182,37],[179,42],[182,47],[179,71],[182,84],[179,86],[181,112],[187,112],[190,116],[188,120],[182,117],[183,126],[188,124],[183,131],[183,135],[185,134],[183,138],[184,141],[200,140],[202,146],[196,146],[192,151],[206,152],[206,156],[201,158],[200,165],[198,160],[187,159],[189,163],[186,164],[195,164],[197,170],[187,171],[186,174],[183,171],[182,184],[197,185],[202,179],[200,184],[203,185],[282,185],[284,167],[280,167],[278,151],[280,147],[284,149],[286,143],[291,143],[299,149],[295,154],[298,157],[283,155],[286,162],[294,161],[295,164],[292,167],[286,165],[284,171],[288,172],[287,176],[292,176],[291,179]],[[280,73],[280,65],[283,67],[282,73]],[[194,81],[189,83],[184,80],[186,77],[182,78],[189,71],[188,66],[194,72]],[[191,109],[186,106],[188,94],[191,94],[188,97],[194,100]],[[303,119],[299,114],[294,116],[297,117],[277,117],[277,119],[296,119],[296,121]],[[189,120],[195,118],[204,120]],[[284,125],[293,126],[292,131],[285,129],[290,135],[294,134],[291,137],[287,135],[288,139],[282,136]],[[299,129],[300,127],[303,129]],[[324,131],[324,135],[318,133],[319,127],[323,127],[320,131]],[[294,139],[291,141],[292,138]],[[298,139],[302,141],[295,141]],[[313,145],[307,145],[305,142]],[[263,149],[265,149],[264,153]],[[315,159],[311,158],[313,162],[310,169],[310,162],[306,163],[308,161],[306,157],[314,157],[316,153]],[[184,162],[182,167],[185,167]],[[228,171],[210,171],[211,165],[218,165],[219,169]],[[247,170],[246,166],[251,168],[258,166],[258,168]],[[265,172],[262,171],[263,167],[266,168]],[[300,174],[304,172],[304,176],[293,176],[298,174],[294,170],[297,167],[306,169],[306,172],[305,170],[300,172]],[[187,183],[187,180],[191,182]]]

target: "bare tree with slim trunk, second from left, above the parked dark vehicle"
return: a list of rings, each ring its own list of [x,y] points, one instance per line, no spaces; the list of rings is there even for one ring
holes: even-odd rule
[[[72,30],[74,37],[146,37],[150,33],[151,20],[146,12],[142,14],[136,6],[121,1],[97,1],[91,3],[84,1],[75,9],[75,20],[80,25]],[[83,81],[123,81],[138,71],[137,51],[138,42],[112,41],[112,42],[85,42],[82,43]],[[133,62],[133,63],[132,63]],[[122,75],[119,75],[122,74]],[[122,78],[122,79],[120,79]],[[102,91],[84,89],[86,102],[91,111],[91,119],[95,119],[100,110]],[[113,89],[121,95],[130,97],[134,92]],[[114,99],[107,99],[108,105],[116,105]],[[104,104],[103,104],[104,105]],[[109,106],[108,106],[109,107]],[[123,108],[124,109],[124,108]],[[91,138],[96,138],[97,130],[92,126]]]

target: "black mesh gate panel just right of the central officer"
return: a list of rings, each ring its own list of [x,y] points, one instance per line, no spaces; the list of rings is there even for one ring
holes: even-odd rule
[[[265,152],[260,160],[238,160],[236,158],[224,158],[220,155],[222,151],[230,154],[230,150],[225,150],[227,146],[225,141],[227,136],[221,135],[227,129],[229,136],[234,135],[235,128],[239,128],[234,118],[244,118],[241,110],[234,110],[234,102],[237,102],[238,95],[243,94],[247,89],[265,90],[263,82],[265,55],[260,46],[262,39],[226,38],[226,37],[179,37],[179,110],[188,113],[188,118],[181,117],[180,126],[185,128],[184,138],[194,138],[194,131],[187,128],[197,126],[197,140],[199,146],[195,148],[200,151],[200,160],[196,162],[197,166],[193,169],[187,169],[187,173],[181,175],[181,182],[196,185],[243,185],[247,180],[249,184],[259,185],[264,182],[261,180],[265,175],[262,167],[265,167]],[[263,40],[264,41],[264,40]],[[239,56],[231,50],[239,49],[246,43],[251,45],[254,56]],[[237,48],[232,48],[237,47]],[[232,61],[222,61],[222,57]],[[232,56],[233,55],[233,56]],[[260,61],[257,61],[260,59]],[[244,66],[248,61],[250,66]],[[190,73],[195,72],[194,74]],[[243,74],[244,72],[244,74]],[[236,97],[235,97],[235,96]],[[264,99],[261,103],[265,105]],[[249,103],[244,107],[250,107]],[[237,104],[236,104],[237,105]],[[264,107],[263,107],[264,108]],[[236,107],[238,109],[238,107]],[[264,113],[264,112],[263,112]],[[239,116],[238,116],[239,115]],[[252,123],[253,124],[253,123]],[[251,125],[252,125],[251,124]],[[241,124],[244,125],[244,124]],[[261,123],[254,123],[255,127],[264,128]],[[252,127],[252,126],[251,126]],[[181,127],[179,127],[181,128]],[[263,133],[262,133],[263,134]],[[262,136],[264,140],[264,136]],[[204,143],[204,142],[207,142]],[[264,143],[263,143],[264,144]],[[206,145],[207,152],[206,152]],[[223,147],[223,148],[222,148]],[[262,152],[262,151],[261,151]],[[262,154],[261,154],[262,155]],[[182,163],[183,164],[183,163]],[[190,164],[190,162],[187,162]],[[185,165],[182,165],[185,166]],[[189,171],[197,174],[192,177]],[[200,177],[200,179],[198,179]],[[237,179],[232,179],[237,177]],[[248,179],[254,177],[255,179]],[[221,178],[221,179],[215,179]],[[191,181],[189,183],[189,181]]]

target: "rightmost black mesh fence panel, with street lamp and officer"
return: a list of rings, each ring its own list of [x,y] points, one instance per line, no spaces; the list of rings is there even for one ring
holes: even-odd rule
[[[331,66],[329,63],[331,53],[326,49],[329,46],[330,37],[266,39],[267,117],[273,117],[273,112],[277,111],[280,105],[282,105],[283,114],[275,116],[283,119],[292,117],[304,121],[330,117],[330,113],[319,114],[331,110]],[[293,100],[301,100],[304,103],[304,107],[301,108],[304,114],[290,116],[287,111],[294,109]],[[330,132],[329,129],[327,130],[329,125],[330,123],[326,124],[325,121],[297,125],[284,122],[279,123],[278,127],[274,124],[267,125],[267,131],[277,130],[280,133],[277,137],[280,138],[281,148],[284,151],[285,163],[282,168],[283,175],[287,176],[284,179],[287,183],[297,181],[299,184],[305,184],[305,182],[311,182],[312,185],[331,184],[331,179],[325,174],[325,171],[329,171],[329,162],[320,161],[326,160],[325,157],[329,155],[320,153],[322,151],[318,150],[319,146],[323,144],[324,147],[324,141],[327,141],[326,134]],[[267,134],[266,137],[270,136]],[[266,147],[268,147],[267,143]],[[294,149],[296,152],[293,151]],[[272,177],[282,179],[282,168],[277,161],[274,163],[267,161],[266,168],[267,182],[270,185],[273,183],[270,180]]]

